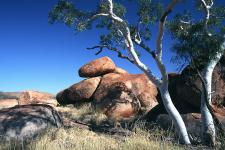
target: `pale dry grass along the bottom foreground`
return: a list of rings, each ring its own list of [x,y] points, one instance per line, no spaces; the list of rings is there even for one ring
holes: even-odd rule
[[[143,130],[116,139],[87,129],[70,128],[49,130],[26,146],[30,150],[172,150],[181,149],[172,143],[150,139],[151,133]]]

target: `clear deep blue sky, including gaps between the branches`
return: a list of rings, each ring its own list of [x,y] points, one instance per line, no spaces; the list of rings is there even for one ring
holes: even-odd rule
[[[125,0],[126,1],[126,0]],[[168,3],[169,0],[161,0]],[[97,0],[73,0],[80,8],[94,8]],[[224,0],[217,0],[225,5]],[[117,58],[113,52],[105,51],[95,56],[86,47],[98,42],[99,31],[92,30],[75,35],[63,24],[48,23],[48,13],[57,0],[1,0],[0,3],[0,91],[38,90],[57,93],[83,80],[78,69],[85,63],[101,56],[111,57],[117,66],[130,73],[141,73],[126,60]],[[135,10],[127,5],[128,11]],[[179,5],[188,9],[190,3]],[[182,6],[182,7],[181,7]],[[128,17],[133,17],[132,13]],[[154,48],[157,27],[153,26]],[[168,72],[175,72],[177,66],[170,63],[172,40],[166,36],[163,61]],[[143,54],[156,75],[157,68],[150,55]]]

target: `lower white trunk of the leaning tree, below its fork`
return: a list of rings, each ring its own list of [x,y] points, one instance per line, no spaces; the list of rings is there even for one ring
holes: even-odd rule
[[[166,108],[166,111],[168,112],[169,116],[172,118],[173,122],[175,123],[176,129],[178,130],[179,139],[184,144],[191,144],[184,121],[171,100],[171,97],[168,91],[168,84],[163,84],[160,87],[160,93],[161,93],[164,107]]]

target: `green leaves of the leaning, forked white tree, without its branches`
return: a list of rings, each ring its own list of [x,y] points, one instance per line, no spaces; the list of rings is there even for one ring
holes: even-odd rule
[[[132,0],[130,0],[132,1]],[[129,24],[126,20],[126,7],[123,6],[123,1],[114,2],[114,13],[122,18],[130,27],[131,35],[134,38],[137,31],[140,33],[140,38],[143,40],[150,40],[151,38],[151,24],[159,20],[162,14],[162,5],[151,0],[138,0],[132,1],[138,5],[137,23]],[[109,6],[107,1],[100,1],[96,11],[88,12],[77,9],[75,5],[67,0],[59,0],[59,2],[52,8],[49,13],[50,23],[64,23],[75,31],[85,31],[96,28],[106,29],[108,32],[100,35],[100,44],[107,44],[113,47],[125,49],[124,37],[121,32],[125,29],[120,24],[112,22],[109,17],[92,18],[93,15],[98,13],[108,13]],[[118,29],[120,31],[118,31]]]

